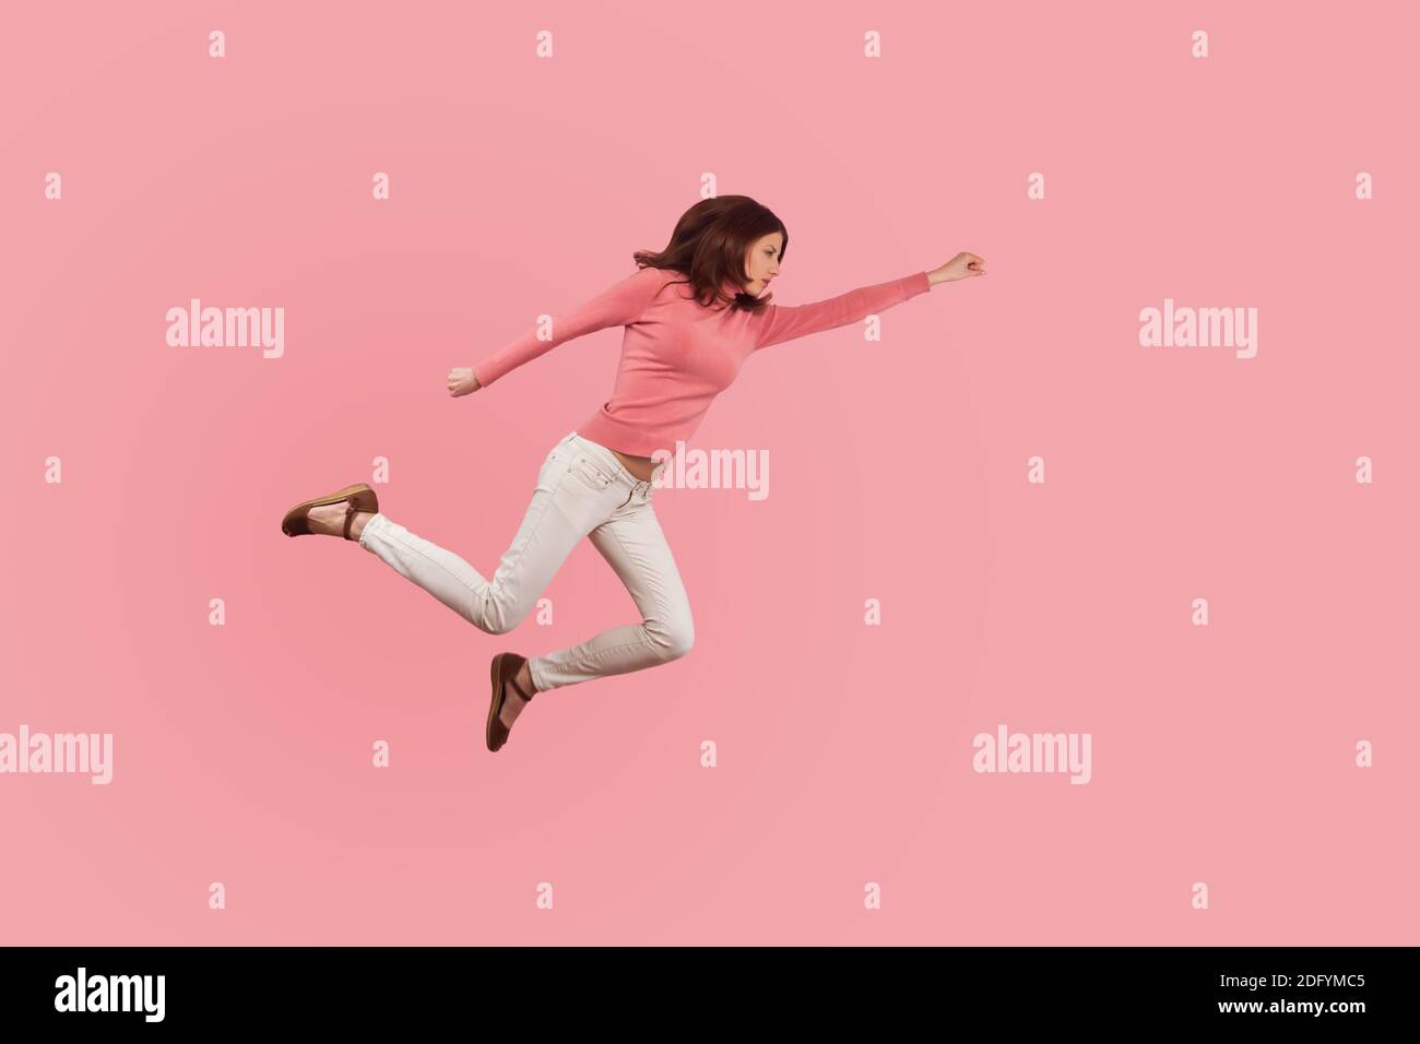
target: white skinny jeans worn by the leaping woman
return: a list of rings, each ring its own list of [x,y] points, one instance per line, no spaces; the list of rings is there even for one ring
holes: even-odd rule
[[[652,482],[663,467],[656,466]],[[532,501],[491,581],[383,513],[365,523],[359,544],[480,631],[501,635],[523,622],[567,555],[588,537],[630,591],[642,621],[530,656],[532,685],[541,692],[690,652],[690,601],[650,500],[650,482],[638,480],[605,446],[568,432],[542,462]]]

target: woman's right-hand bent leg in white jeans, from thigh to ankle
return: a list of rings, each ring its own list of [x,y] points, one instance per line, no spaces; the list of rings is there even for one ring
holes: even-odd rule
[[[616,510],[588,537],[630,591],[642,622],[528,659],[540,692],[667,663],[694,642],[690,599],[649,499]]]

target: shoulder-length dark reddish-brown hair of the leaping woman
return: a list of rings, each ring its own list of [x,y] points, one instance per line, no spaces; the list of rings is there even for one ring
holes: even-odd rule
[[[772,294],[754,297],[741,291],[731,300],[721,293],[720,284],[731,280],[743,287],[744,256],[755,240],[775,232],[784,236],[782,260],[790,249],[790,233],[772,210],[748,196],[717,196],[680,214],[665,250],[638,250],[632,260],[642,268],[679,271],[703,305],[727,301],[731,308],[757,312],[768,305]]]

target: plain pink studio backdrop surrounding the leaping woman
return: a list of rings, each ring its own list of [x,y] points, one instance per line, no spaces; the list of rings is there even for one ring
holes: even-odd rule
[[[0,939],[1416,942],[1414,23],[7,9],[0,732],[115,763],[0,777]],[[692,446],[768,450],[770,499],[656,493],[693,652],[488,754],[494,652],[636,619],[595,550],[490,636],[280,517],[388,456],[386,513],[491,572],[619,331],[446,372],[665,246],[704,172],[788,224],[782,304],[990,274],[753,359]],[[169,348],[190,297],[284,307],[285,355]],[[1140,347],[1166,297],[1255,307],[1257,358]],[[973,773],[1001,722],[1091,733],[1093,780]]]

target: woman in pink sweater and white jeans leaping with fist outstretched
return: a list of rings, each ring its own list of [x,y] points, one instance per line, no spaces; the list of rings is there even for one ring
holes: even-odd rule
[[[449,372],[449,393],[469,395],[557,345],[621,325],[612,398],[552,446],[523,524],[484,580],[469,562],[381,513],[364,483],[297,504],[281,520],[288,535],[338,534],[389,562],[490,635],[515,628],[582,537],[611,562],[640,611],[628,624],[542,656],[493,658],[486,740],[507,741],[535,693],[666,663],[690,651],[694,626],[680,572],[652,509],[656,470],[689,439],[710,402],[755,351],[842,327],[890,308],[936,283],[984,276],[985,261],[960,253],[933,271],[797,307],[760,297],[778,276],[788,232],[748,196],[690,207],[660,253],[636,251],[638,271],[555,317],[551,337],[532,331],[476,366]]]

